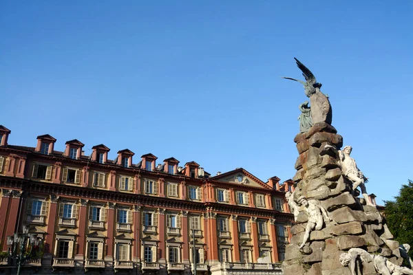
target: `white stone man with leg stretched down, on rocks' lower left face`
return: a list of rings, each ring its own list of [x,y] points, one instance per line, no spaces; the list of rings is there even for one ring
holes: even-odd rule
[[[332,221],[330,217],[328,217],[326,209],[318,201],[314,199],[310,199],[307,201],[306,197],[299,197],[298,203],[301,206],[304,206],[308,214],[308,222],[306,226],[306,232],[304,233],[303,243],[299,246],[299,248],[304,248],[308,239],[310,239],[310,233],[313,230],[320,230],[325,221]]]

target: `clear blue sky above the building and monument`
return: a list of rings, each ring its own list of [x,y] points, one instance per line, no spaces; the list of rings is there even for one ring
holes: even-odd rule
[[[0,1],[10,144],[77,138],[209,173],[295,175],[296,56],[333,126],[392,199],[412,175],[412,1]]]

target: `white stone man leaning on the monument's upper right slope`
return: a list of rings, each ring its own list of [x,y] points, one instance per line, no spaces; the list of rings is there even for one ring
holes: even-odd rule
[[[346,177],[348,177],[348,179],[350,179],[350,181],[352,181],[353,195],[355,194],[357,187],[360,186],[361,194],[363,195],[364,199],[366,199],[366,203],[370,206],[374,206],[370,202],[370,199],[368,199],[365,185],[368,182],[368,179],[357,167],[356,161],[352,157],[350,157],[351,151],[352,146],[345,146],[343,148],[343,151],[339,151],[341,170],[343,171],[343,175],[345,175]]]

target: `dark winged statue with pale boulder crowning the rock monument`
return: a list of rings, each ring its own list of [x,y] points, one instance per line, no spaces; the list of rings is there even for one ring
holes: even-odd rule
[[[307,102],[299,105],[301,110],[300,120],[300,131],[301,133],[308,131],[310,127],[318,122],[326,122],[331,124],[332,122],[332,109],[328,97],[321,93],[321,83],[318,83],[315,79],[314,74],[297,58],[294,58],[297,63],[297,67],[303,73],[306,82],[295,79],[284,77],[285,79],[294,80],[302,85],[304,85],[304,93],[308,98],[310,98],[310,110],[308,110]],[[303,123],[305,120],[305,123]]]

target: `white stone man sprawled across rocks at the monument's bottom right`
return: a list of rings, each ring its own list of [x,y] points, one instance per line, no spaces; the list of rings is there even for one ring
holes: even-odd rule
[[[372,255],[361,248],[350,248],[347,253],[340,255],[341,265],[345,267],[348,266],[352,275],[361,274],[357,272],[358,270],[362,270],[362,268],[356,264],[357,259],[361,261],[362,265],[372,263],[374,269],[381,275],[413,275],[413,270],[409,270],[407,267],[394,265],[394,263],[388,261],[387,258],[380,255]]]

